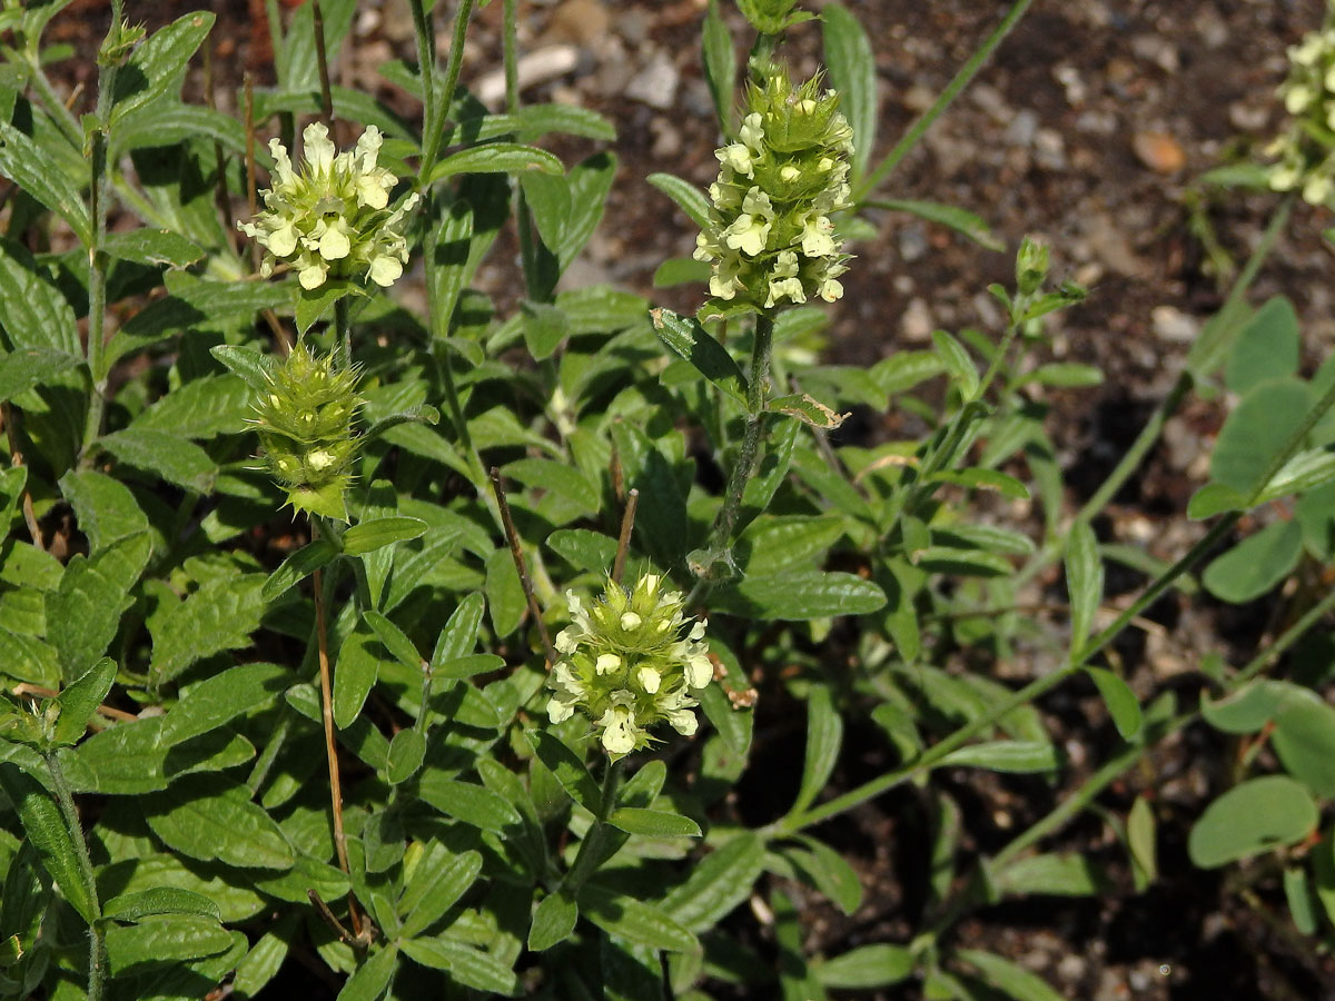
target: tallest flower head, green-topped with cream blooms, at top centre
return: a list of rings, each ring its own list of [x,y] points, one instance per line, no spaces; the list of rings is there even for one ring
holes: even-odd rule
[[[849,256],[830,215],[850,204],[852,152],[838,95],[818,75],[794,88],[786,71],[764,68],[737,141],[714,153],[709,224],[696,240],[696,259],[712,264],[710,295],[764,310],[844,295]]]

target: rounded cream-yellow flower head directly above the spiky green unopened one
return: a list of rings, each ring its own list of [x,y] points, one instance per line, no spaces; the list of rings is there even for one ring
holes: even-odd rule
[[[418,196],[409,195],[390,211],[398,179],[375,165],[380,141],[380,131],[367,125],[355,149],[335,153],[328,129],[312,123],[302,133],[304,159],[298,171],[283,144],[270,140],[274,187],[260,192],[264,211],[255,222],[238,223],[268,251],[260,274],[267,278],[276,262],[284,262],[306,290],[330,278],[394,284],[409,259],[405,216]]]

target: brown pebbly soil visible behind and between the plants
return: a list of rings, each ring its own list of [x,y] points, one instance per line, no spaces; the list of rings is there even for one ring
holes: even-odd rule
[[[284,0],[286,1],[286,0]],[[725,0],[726,8],[732,4]],[[820,8],[822,0],[810,7]],[[999,0],[846,0],[876,48],[884,152],[951,79],[973,47],[1001,19]],[[250,67],[271,79],[262,0],[127,0],[127,13],[150,27],[187,9],[219,15],[215,63],[223,87]],[[1053,250],[1055,271],[1092,290],[1088,303],[1055,323],[1055,358],[1087,362],[1107,374],[1097,391],[1053,392],[1052,431],[1061,448],[1077,505],[1112,467],[1153,404],[1172,384],[1206,318],[1223,299],[1227,275],[1212,270],[1200,239],[1212,232],[1240,263],[1259,238],[1276,200],[1208,191],[1206,170],[1255,153],[1275,129],[1280,108],[1274,88],[1283,79],[1284,48],[1322,16],[1319,0],[1037,0],[975,85],[902,163],[882,192],[969,208],[1013,248],[1031,234]],[[439,0],[442,51],[449,44],[451,0]],[[495,95],[501,3],[478,13],[463,81]],[[549,65],[566,67],[525,91],[526,100],[579,103],[611,119],[621,170],[599,235],[579,262],[577,282],[606,280],[645,294],[654,268],[688,254],[689,220],[645,183],[655,171],[706,184],[717,143],[701,73],[698,25],[704,0],[522,0],[521,44]],[[53,37],[91,55],[105,4],[81,0],[53,24]],[[742,31],[740,17],[730,17]],[[403,0],[363,0],[351,44],[335,76],[379,92],[414,115],[375,75],[394,56],[411,57],[413,29]],[[786,55],[798,69],[814,68],[816,24],[794,31]],[[541,63],[541,59],[539,59]],[[87,72],[64,64],[72,87]],[[490,89],[489,89],[490,88]],[[493,104],[495,97],[491,97]],[[579,145],[562,153],[579,155]],[[993,327],[997,310],[989,282],[1007,282],[1009,254],[979,248],[921,222],[873,215],[878,238],[857,248],[848,295],[836,307],[832,352],[837,360],[873,362],[920,347],[934,327]],[[1304,367],[1328,354],[1331,258],[1320,230],[1324,212],[1300,207],[1254,291],[1254,300],[1283,292],[1303,319]],[[1203,228],[1204,227],[1204,228]],[[487,280],[503,290],[511,276]],[[690,308],[688,294],[657,294]],[[1223,415],[1220,402],[1191,402],[1175,418],[1143,475],[1119,495],[1100,525],[1107,539],[1148,545],[1160,557],[1187,549],[1193,537],[1181,513],[1206,471],[1206,456]],[[893,419],[893,418],[892,418]],[[1116,590],[1116,582],[1115,590]],[[1125,590],[1136,585],[1124,582]],[[1173,599],[1157,618],[1167,629],[1136,649],[1127,665],[1141,694],[1181,683],[1211,637],[1251,653],[1268,610],[1224,611]],[[1016,667],[1023,671],[1024,666]],[[1184,698],[1196,689],[1185,683]],[[1091,722],[1087,698],[1057,694],[1043,703],[1068,746],[1097,759],[1112,746],[1107,726]],[[1163,880],[1135,896],[1129,881],[1097,901],[1045,898],[985,910],[965,921],[960,940],[1015,957],[1067,997],[1089,1001],[1145,998],[1316,998],[1335,996],[1335,965],[1283,930],[1283,901],[1262,894],[1244,905],[1227,880],[1200,874],[1185,858],[1184,837],[1211,785],[1220,747],[1188,731],[1144,770],[1109,790],[1104,802],[1124,813],[1131,797],[1155,789],[1164,831]],[[856,779],[858,775],[844,775]],[[961,793],[995,818],[1023,797],[1051,802],[1052,790],[995,783]],[[904,844],[912,825],[900,818],[913,795],[886,798],[857,813],[840,838],[858,856],[868,904],[853,922],[809,909],[814,945],[834,940],[904,941],[912,932],[904,901],[914,893],[921,845]],[[976,844],[1004,836],[992,819],[971,833]],[[1105,849],[1101,822],[1075,825],[1057,846]],[[846,936],[852,936],[848,938]],[[917,988],[893,997],[917,997]]]

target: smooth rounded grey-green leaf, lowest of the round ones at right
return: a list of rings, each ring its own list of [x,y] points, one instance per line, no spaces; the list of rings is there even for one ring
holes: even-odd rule
[[[1263,775],[1215,799],[1191,829],[1187,852],[1202,869],[1303,841],[1316,829],[1316,803],[1287,775]]]

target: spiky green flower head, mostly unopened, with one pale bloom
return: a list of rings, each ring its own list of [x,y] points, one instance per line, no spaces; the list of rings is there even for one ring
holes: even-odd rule
[[[264,447],[264,467],[292,507],[347,521],[343,496],[360,444],[352,432],[362,404],[356,368],[339,368],[332,355],[316,358],[298,342],[267,379],[252,422]]]

